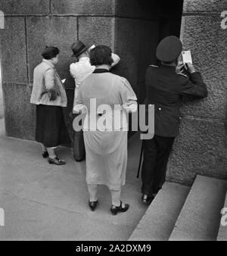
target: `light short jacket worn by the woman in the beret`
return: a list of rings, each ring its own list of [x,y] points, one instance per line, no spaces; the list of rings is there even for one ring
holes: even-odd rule
[[[57,91],[58,96],[54,101],[49,99],[48,91],[50,89]],[[36,105],[67,106],[67,96],[61,78],[54,69],[54,65],[45,59],[34,70],[30,102]]]

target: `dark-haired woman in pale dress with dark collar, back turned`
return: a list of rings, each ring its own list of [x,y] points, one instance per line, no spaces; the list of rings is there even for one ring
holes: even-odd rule
[[[117,214],[129,209],[129,204],[120,200],[120,192],[121,186],[126,183],[126,111],[137,110],[137,98],[125,78],[110,73],[113,63],[110,48],[105,45],[96,46],[90,52],[90,61],[95,65],[95,71],[79,87],[73,108],[76,113],[86,112],[86,120],[90,120],[85,121],[83,126],[89,207],[95,211],[98,185],[106,185],[112,196],[110,211]],[[107,105],[109,107],[104,113],[101,108],[104,109]],[[110,125],[101,125],[104,119]],[[92,129],[92,120],[97,121],[95,130]]]

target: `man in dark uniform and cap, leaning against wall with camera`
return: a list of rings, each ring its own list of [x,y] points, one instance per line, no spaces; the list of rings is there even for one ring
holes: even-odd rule
[[[154,105],[154,137],[143,141],[141,199],[145,204],[151,204],[165,181],[166,164],[179,133],[182,96],[207,96],[201,73],[192,64],[186,64],[187,75],[176,72],[181,52],[182,42],[176,36],[167,36],[157,46],[160,67],[151,65],[146,73],[146,105]]]

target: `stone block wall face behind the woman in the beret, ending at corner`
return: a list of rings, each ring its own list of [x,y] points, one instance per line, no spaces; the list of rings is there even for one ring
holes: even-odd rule
[[[0,30],[5,131],[34,139],[36,111],[30,104],[33,69],[45,45],[61,51],[58,73],[64,79],[77,39],[114,48],[115,0],[0,0],[5,30]]]

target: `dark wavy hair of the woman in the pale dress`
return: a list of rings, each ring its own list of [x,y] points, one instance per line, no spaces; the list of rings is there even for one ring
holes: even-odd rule
[[[90,62],[92,66],[99,66],[103,64],[110,65],[113,63],[111,57],[111,49],[106,45],[95,46],[90,52]]]

